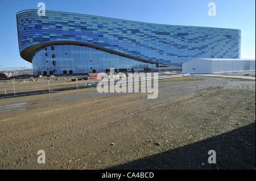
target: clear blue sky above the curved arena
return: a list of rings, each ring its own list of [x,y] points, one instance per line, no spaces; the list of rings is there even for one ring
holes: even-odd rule
[[[241,58],[255,58],[255,0],[0,0],[0,68],[31,67],[19,55],[16,13],[38,9],[75,12],[147,23],[235,28],[242,32]],[[208,3],[216,16],[208,15]]]

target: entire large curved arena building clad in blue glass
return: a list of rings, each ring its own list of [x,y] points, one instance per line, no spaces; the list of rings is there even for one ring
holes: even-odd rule
[[[240,58],[241,31],[46,10],[16,14],[20,56],[34,75],[150,70],[193,58]]]

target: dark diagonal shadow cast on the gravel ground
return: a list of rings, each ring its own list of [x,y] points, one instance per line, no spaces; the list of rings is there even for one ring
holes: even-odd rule
[[[216,151],[216,164],[208,151]],[[255,169],[255,123],[108,169]]]

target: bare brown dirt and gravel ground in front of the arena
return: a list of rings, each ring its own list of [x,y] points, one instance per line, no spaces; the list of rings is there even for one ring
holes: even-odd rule
[[[255,169],[255,81],[164,79],[147,94],[0,99],[0,169]]]

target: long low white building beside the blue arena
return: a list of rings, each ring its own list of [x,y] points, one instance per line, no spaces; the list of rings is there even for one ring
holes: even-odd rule
[[[255,71],[255,59],[195,58],[182,64],[183,74],[210,74],[253,70]]]

